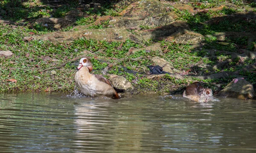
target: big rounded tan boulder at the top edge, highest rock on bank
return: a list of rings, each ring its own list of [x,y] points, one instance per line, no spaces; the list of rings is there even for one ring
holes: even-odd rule
[[[166,6],[159,0],[140,0],[132,3],[120,15],[110,20],[109,24],[126,29],[140,29],[141,26],[154,28],[173,23],[175,14],[166,14]]]

